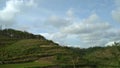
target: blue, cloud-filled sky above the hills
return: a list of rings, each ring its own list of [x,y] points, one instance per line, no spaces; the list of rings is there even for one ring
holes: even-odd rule
[[[120,41],[120,0],[0,0],[0,25],[64,46]]]

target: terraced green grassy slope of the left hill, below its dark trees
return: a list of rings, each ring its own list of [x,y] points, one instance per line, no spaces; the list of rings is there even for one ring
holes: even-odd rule
[[[51,45],[46,41],[36,39],[20,40],[12,45],[8,45],[0,49],[0,60],[4,63],[19,63],[22,64],[4,64],[0,65],[1,68],[18,66],[23,68],[26,66],[43,66],[43,65],[56,65],[57,56],[64,54],[59,63],[69,59],[70,52],[64,47],[58,45]],[[65,56],[66,55],[66,56]],[[32,62],[32,63],[23,63]],[[66,61],[68,62],[68,61]],[[65,62],[64,62],[65,63]],[[13,66],[13,67],[12,67]]]

